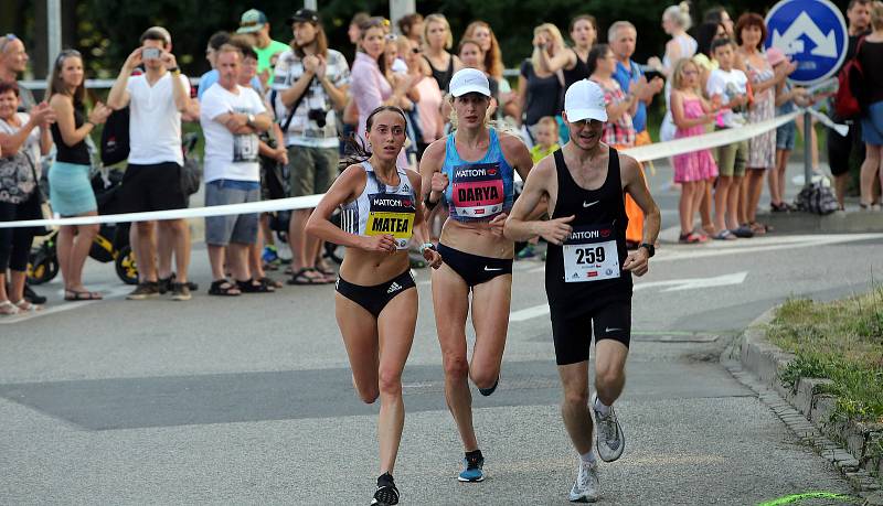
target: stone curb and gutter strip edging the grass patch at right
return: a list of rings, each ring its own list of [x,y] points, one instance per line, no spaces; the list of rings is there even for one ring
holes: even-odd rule
[[[813,446],[850,484],[862,493],[866,506],[883,506],[883,459],[871,456],[869,445],[883,441],[883,431],[854,422],[832,420],[837,398],[819,394],[828,379],[800,378],[786,388],[780,373],[795,355],[766,342],[765,327],[776,308],[757,317],[724,352],[721,362],[743,385],[754,390],[774,413]],[[830,438],[830,439],[829,439]]]

